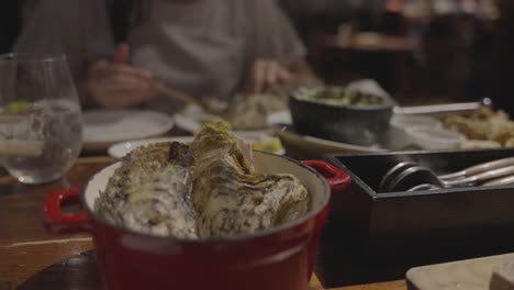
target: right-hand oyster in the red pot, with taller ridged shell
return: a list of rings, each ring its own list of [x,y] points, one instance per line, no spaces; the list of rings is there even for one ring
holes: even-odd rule
[[[192,199],[200,236],[254,233],[306,212],[309,194],[300,180],[291,175],[257,172],[249,146],[225,127],[205,126],[191,144],[191,152]]]

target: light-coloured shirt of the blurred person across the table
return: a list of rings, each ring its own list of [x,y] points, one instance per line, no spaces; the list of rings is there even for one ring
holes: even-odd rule
[[[15,51],[66,53],[74,75],[83,77],[86,56],[114,52],[110,31],[104,0],[43,0]],[[287,66],[305,55],[273,0],[154,0],[128,42],[134,66],[199,98],[231,97],[256,58]]]

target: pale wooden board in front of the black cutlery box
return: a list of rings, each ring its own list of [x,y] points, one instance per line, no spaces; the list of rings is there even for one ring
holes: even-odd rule
[[[407,271],[409,290],[488,290],[492,269],[514,259],[514,254],[452,261]]]

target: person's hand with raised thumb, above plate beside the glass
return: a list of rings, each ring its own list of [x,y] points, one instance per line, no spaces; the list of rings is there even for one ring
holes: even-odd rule
[[[149,71],[126,65],[128,47],[120,45],[113,62],[99,60],[88,70],[87,89],[93,102],[120,109],[147,102],[157,96]]]

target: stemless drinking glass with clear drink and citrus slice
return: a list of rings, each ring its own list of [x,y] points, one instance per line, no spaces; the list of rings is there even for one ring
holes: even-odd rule
[[[66,57],[0,55],[0,165],[23,183],[63,177],[82,146],[82,118]]]

